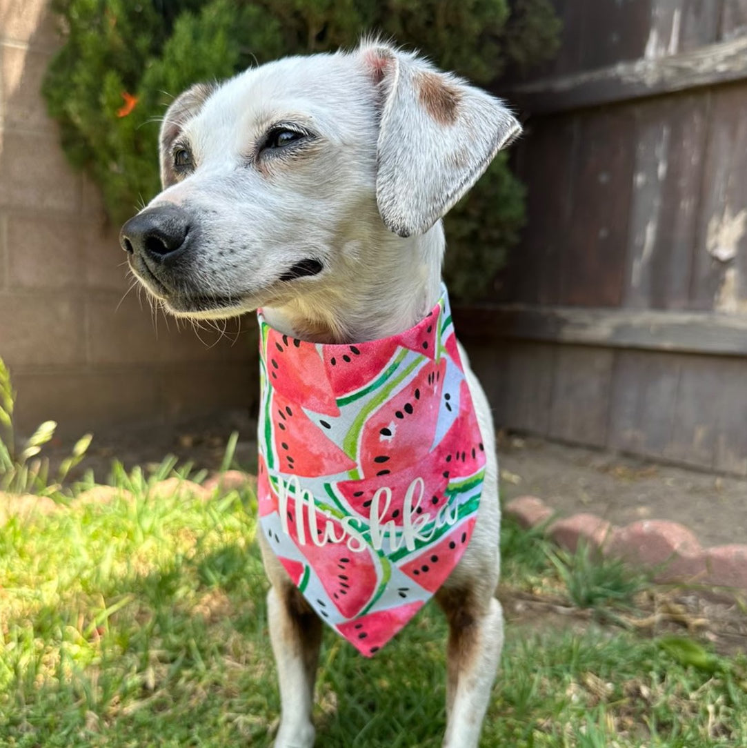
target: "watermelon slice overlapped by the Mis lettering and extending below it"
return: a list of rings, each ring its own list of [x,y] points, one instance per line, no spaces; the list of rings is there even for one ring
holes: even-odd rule
[[[295,499],[288,497],[288,534],[304,554],[311,568],[319,575],[319,580],[337,610],[345,618],[352,618],[363,610],[378,587],[376,553],[368,545],[357,551],[348,548],[350,536],[336,518],[319,513],[316,525],[312,528],[307,512],[303,513],[304,539],[298,541]],[[328,527],[334,541],[328,536],[324,545],[316,545],[311,533],[322,536],[323,528]]]

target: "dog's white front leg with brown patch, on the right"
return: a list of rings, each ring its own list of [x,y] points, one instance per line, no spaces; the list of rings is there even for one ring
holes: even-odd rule
[[[503,646],[503,612],[492,595],[443,589],[449,620],[446,736],[443,748],[477,748]]]

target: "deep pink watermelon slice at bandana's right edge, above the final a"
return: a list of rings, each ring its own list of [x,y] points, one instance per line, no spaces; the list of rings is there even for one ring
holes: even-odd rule
[[[485,465],[485,445],[472,407],[470,388],[462,380],[459,387],[459,416],[433,452],[434,470],[449,482],[476,473]]]

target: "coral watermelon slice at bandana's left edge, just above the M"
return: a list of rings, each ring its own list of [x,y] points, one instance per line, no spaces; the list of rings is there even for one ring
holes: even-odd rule
[[[270,402],[277,470],[301,476],[334,475],[355,463],[301,408],[274,390]]]

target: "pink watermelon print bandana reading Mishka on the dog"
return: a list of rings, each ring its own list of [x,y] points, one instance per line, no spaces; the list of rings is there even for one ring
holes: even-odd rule
[[[437,591],[470,542],[485,450],[446,288],[401,334],[308,343],[259,317],[262,532],[362,654]]]

